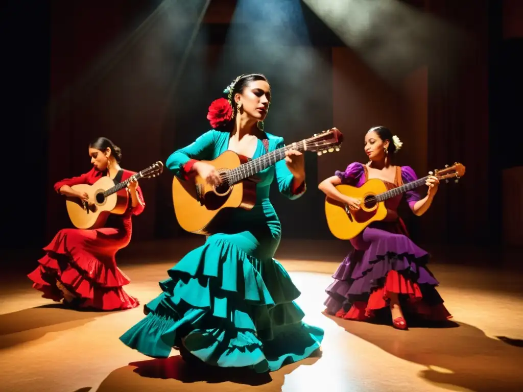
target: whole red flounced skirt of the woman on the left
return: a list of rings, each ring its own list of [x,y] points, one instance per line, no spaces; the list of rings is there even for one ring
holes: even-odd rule
[[[129,278],[117,267],[116,252],[129,243],[124,229],[101,228],[60,230],[46,251],[38,268],[28,274],[33,288],[44,298],[61,301],[60,286],[75,296],[82,308],[121,310],[137,307],[139,302],[123,290]]]

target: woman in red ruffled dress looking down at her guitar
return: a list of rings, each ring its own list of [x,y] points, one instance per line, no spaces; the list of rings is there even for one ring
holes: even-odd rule
[[[56,192],[87,201],[86,193],[74,191],[77,184],[93,185],[102,176],[115,183],[131,177],[134,172],[120,168],[120,148],[105,137],[89,144],[93,169],[73,178],[56,182]],[[105,227],[98,229],[61,229],[51,243],[43,248],[46,255],[37,269],[28,274],[33,288],[44,298],[62,301],[72,307],[120,310],[139,305],[122,286],[129,278],[117,267],[116,252],[129,244],[132,232],[131,216],[139,215],[145,207],[138,181],[128,185],[131,202],[123,215],[111,214]]]

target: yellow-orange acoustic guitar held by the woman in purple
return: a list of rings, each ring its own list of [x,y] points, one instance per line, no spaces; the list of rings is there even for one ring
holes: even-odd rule
[[[456,182],[465,174],[465,167],[460,163],[446,166],[445,169],[429,172],[440,181],[456,178]],[[380,179],[370,179],[360,188],[349,185],[337,185],[336,189],[344,195],[359,199],[360,209],[351,211],[348,205],[340,203],[329,197],[325,198],[325,216],[331,233],[339,239],[351,239],[360,234],[369,224],[383,220],[387,215],[385,200],[394,198],[408,190],[425,185],[427,177],[408,182],[400,187],[387,190],[384,182]]]

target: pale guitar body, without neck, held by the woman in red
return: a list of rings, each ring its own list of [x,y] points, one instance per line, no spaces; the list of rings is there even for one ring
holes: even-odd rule
[[[110,177],[102,177],[93,185],[73,185],[71,188],[89,195],[88,206],[78,198],[67,198],[67,213],[73,225],[79,229],[104,227],[109,214],[122,215],[129,204],[127,189],[121,189],[104,198],[100,193],[115,186]]]

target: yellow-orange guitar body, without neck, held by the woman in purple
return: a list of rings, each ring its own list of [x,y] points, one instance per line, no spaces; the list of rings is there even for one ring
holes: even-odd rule
[[[384,202],[365,203],[366,199],[387,191],[383,181],[370,179],[360,188],[338,185],[336,189],[348,197],[361,200],[361,209],[351,211],[343,203],[328,197],[325,199],[325,216],[328,228],[336,238],[354,238],[370,223],[381,221],[386,217],[387,210]]]

